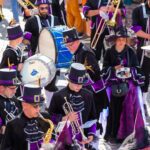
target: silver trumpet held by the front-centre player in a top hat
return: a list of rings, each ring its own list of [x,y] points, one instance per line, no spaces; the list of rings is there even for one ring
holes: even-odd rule
[[[71,104],[68,102],[67,98],[64,97],[65,103],[63,105],[63,110],[65,114],[69,114],[70,112],[74,112]],[[68,109],[68,110],[67,110]],[[81,133],[82,140],[87,140],[87,137],[84,135],[83,130],[80,127],[80,124],[78,121],[71,122],[71,128],[72,128],[72,133],[73,133],[73,138],[75,137],[76,134]]]

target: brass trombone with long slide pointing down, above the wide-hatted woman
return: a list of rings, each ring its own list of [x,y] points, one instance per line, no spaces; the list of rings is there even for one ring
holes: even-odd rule
[[[110,4],[110,1],[111,1],[111,0],[109,0],[109,1],[107,2],[106,7],[108,7],[108,5]],[[116,6],[116,8],[115,8],[115,12],[114,12],[113,17],[112,17],[111,20],[108,21],[108,19],[101,18],[100,23],[99,23],[99,25],[98,25],[98,27],[97,27],[97,29],[96,29],[96,32],[95,32],[94,37],[93,37],[92,42],[91,42],[91,48],[92,48],[92,49],[95,49],[95,48],[96,48],[97,43],[98,43],[98,41],[99,41],[99,38],[100,38],[102,32],[104,31],[105,25],[107,24],[107,25],[112,26],[112,27],[115,26],[115,24],[116,24],[117,11],[118,11],[120,2],[121,2],[121,0],[117,0],[117,2],[116,2],[116,0],[113,0],[113,4],[114,4],[114,5],[117,4],[117,6]],[[107,16],[108,16],[108,13],[109,13],[109,12],[107,12],[107,14],[106,14]]]

